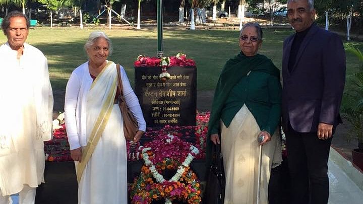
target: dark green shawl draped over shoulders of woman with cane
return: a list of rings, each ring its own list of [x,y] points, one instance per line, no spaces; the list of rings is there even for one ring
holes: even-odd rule
[[[247,76],[250,71],[263,72],[280,79],[280,72],[276,66],[272,63],[271,59],[265,55],[256,54],[254,56],[246,56],[243,52],[240,52],[234,58],[229,59],[219,76],[217,87],[215,89],[211,115],[209,118],[209,128],[207,134],[207,147],[206,147],[206,164],[210,163],[211,145],[210,131],[211,127],[220,120],[221,111],[224,106],[224,102],[227,99],[230,90],[238,83],[243,77]],[[220,134],[219,134],[220,135]]]

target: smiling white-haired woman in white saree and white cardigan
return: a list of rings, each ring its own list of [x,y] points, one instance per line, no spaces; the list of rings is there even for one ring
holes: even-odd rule
[[[72,73],[66,89],[65,120],[75,160],[78,203],[127,203],[127,153],[119,110],[116,64],[109,38],[92,32],[85,44],[89,60]],[[134,142],[146,129],[139,101],[120,66],[124,96],[139,125]],[[91,152],[93,151],[93,152]],[[87,158],[85,155],[90,154]]]

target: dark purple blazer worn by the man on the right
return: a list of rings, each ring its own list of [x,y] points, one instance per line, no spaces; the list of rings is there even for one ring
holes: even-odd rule
[[[316,132],[319,122],[336,126],[345,83],[345,52],[337,34],[313,24],[295,64],[288,61],[295,34],[285,39],[282,58],[282,126]]]

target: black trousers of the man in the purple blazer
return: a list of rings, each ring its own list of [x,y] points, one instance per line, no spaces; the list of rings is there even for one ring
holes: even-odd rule
[[[291,177],[291,204],[326,204],[329,198],[328,159],[332,138],[285,130]],[[333,131],[334,132],[334,131]]]

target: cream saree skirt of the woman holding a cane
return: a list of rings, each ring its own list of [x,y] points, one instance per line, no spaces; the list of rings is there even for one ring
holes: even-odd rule
[[[244,105],[227,128],[221,122],[221,151],[226,177],[225,204],[256,203],[259,147],[261,132],[254,116]],[[268,203],[268,183],[271,168],[282,161],[278,131],[264,145],[261,173],[261,204]]]

